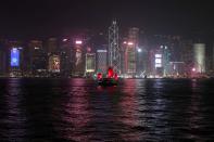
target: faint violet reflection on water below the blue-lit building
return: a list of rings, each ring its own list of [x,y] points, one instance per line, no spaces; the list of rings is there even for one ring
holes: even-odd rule
[[[5,82],[5,92],[3,96],[4,106],[1,108],[1,126],[8,131],[2,131],[2,141],[10,139],[11,141],[22,142],[23,135],[26,133],[26,116],[25,109],[22,107],[22,99],[20,95],[22,90],[20,79],[12,79]],[[1,96],[1,98],[2,98]]]

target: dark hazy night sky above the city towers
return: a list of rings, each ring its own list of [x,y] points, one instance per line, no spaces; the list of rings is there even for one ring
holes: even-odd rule
[[[105,31],[113,18],[121,29],[137,26],[151,34],[211,33],[214,9],[207,1],[4,0],[0,2],[0,36],[36,38],[81,28]]]

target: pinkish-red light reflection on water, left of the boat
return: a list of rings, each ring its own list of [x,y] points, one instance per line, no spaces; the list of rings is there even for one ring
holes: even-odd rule
[[[87,141],[90,133],[87,133],[87,126],[90,122],[89,95],[85,80],[76,79],[68,82],[66,103],[61,102],[61,108],[55,114],[63,125],[56,124],[55,130],[60,130],[62,137],[72,141]],[[83,88],[85,87],[85,88]],[[59,107],[59,106],[56,106]]]

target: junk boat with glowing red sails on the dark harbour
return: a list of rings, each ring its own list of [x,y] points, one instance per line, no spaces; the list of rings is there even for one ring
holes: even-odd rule
[[[109,67],[106,76],[98,73],[97,80],[99,86],[117,86],[118,76],[112,67]]]

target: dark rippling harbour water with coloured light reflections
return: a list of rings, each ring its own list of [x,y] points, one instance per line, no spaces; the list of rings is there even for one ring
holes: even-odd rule
[[[214,80],[0,79],[0,141],[214,141]]]

